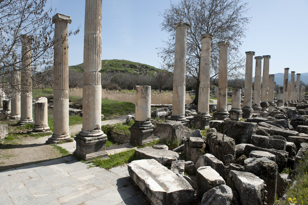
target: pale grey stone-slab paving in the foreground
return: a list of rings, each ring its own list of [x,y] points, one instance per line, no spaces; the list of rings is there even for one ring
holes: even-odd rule
[[[74,156],[1,171],[0,200],[2,205],[147,203],[127,166],[88,168]]]

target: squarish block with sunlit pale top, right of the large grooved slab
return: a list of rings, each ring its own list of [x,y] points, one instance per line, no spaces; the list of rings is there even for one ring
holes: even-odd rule
[[[221,184],[225,180],[210,166],[201,166],[197,169],[197,195],[202,198],[205,192]]]

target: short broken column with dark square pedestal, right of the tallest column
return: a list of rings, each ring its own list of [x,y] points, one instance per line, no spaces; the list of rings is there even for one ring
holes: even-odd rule
[[[154,140],[154,125],[151,121],[151,86],[136,86],[136,118],[128,128],[130,143],[143,145]]]

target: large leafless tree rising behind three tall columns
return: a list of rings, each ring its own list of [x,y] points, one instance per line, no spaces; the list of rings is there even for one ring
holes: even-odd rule
[[[162,31],[169,33],[164,47],[158,48],[158,55],[167,69],[173,69],[175,28],[174,23],[185,22],[191,27],[187,31],[186,75],[196,79],[196,98],[198,103],[199,67],[201,59],[201,34],[214,35],[211,46],[211,81],[218,77],[219,47],[217,42],[229,41],[228,75],[240,77],[244,68],[244,57],[239,53],[241,38],[245,37],[249,17],[246,17],[247,3],[241,0],[182,0],[170,3],[163,14]]]

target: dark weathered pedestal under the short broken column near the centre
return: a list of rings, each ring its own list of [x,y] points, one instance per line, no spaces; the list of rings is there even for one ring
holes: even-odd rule
[[[130,143],[143,145],[148,142],[154,141],[154,128],[151,121],[135,121],[135,123],[128,128],[131,132]]]

